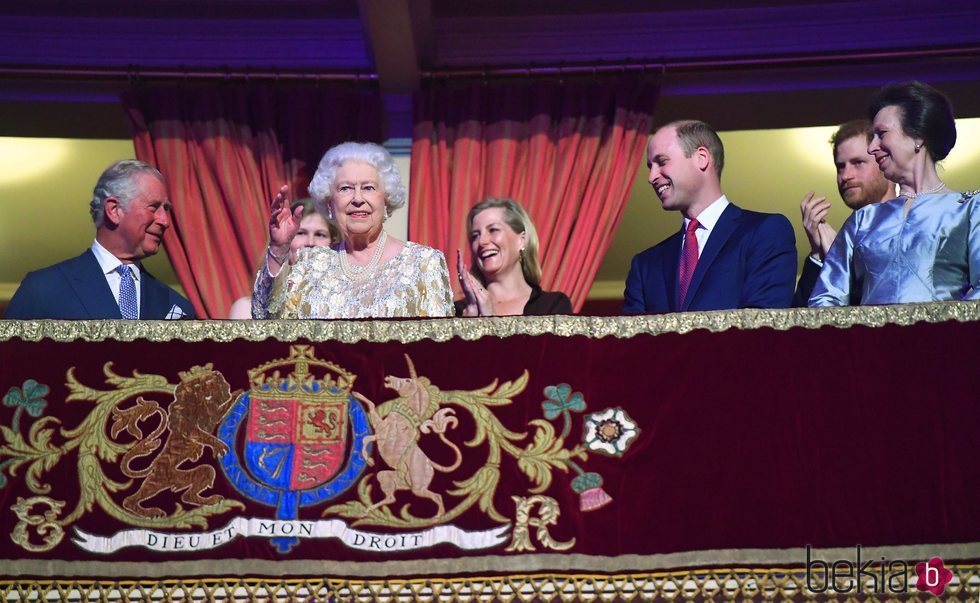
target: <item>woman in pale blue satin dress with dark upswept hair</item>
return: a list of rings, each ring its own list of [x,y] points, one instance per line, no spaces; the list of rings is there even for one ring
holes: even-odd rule
[[[868,113],[868,152],[902,194],[847,219],[809,305],[980,299],[980,192],[955,192],[936,172],[956,142],[949,99],[920,82],[893,84]]]

